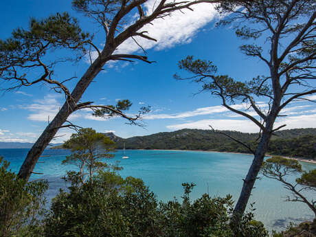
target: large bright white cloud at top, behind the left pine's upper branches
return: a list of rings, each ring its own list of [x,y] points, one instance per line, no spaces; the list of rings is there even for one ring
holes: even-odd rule
[[[159,4],[157,0],[146,1],[144,4],[146,14],[153,12],[157,4]],[[135,36],[135,40],[144,49],[154,48],[156,50],[190,43],[196,33],[216,16],[214,5],[210,3],[193,5],[192,9],[194,11],[185,9],[181,12],[172,12],[170,16],[163,17],[163,19],[155,19],[152,22],[153,24],[147,24],[139,30],[139,32],[148,32],[148,36],[155,38],[157,42],[148,41],[139,36]],[[118,47],[117,53],[128,54],[139,49],[135,41],[129,38]]]

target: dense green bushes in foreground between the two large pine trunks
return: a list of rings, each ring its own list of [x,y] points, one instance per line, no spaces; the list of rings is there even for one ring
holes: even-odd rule
[[[68,193],[60,191],[45,218],[44,236],[267,236],[251,214],[238,227],[229,225],[232,196],[203,194],[192,202],[193,187],[183,183],[182,203],[157,203],[141,179],[100,171],[91,182],[72,185]]]

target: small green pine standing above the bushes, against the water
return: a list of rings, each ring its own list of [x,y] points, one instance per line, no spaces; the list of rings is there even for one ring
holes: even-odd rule
[[[84,183],[88,177],[91,179],[97,170],[110,168],[109,164],[100,160],[114,156],[111,152],[114,151],[115,143],[92,128],[82,128],[78,133],[72,134],[63,147],[73,152],[63,160],[63,163],[74,163],[80,168],[80,172],[68,172],[68,176],[72,179],[76,177]]]

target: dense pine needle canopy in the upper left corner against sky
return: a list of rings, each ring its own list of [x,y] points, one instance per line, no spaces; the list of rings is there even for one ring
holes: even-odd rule
[[[34,62],[47,50],[62,47],[82,50],[84,41],[89,38],[89,34],[82,32],[78,21],[67,12],[40,21],[31,19],[28,30],[18,28],[12,32],[11,38],[0,40],[0,66],[10,67],[12,63],[36,66]],[[6,74],[10,74],[10,70]]]

